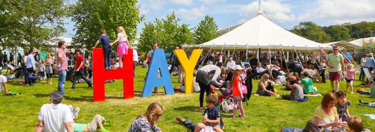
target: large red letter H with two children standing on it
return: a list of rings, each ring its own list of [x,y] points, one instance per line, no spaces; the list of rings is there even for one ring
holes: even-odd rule
[[[128,49],[123,56],[123,69],[104,70],[104,53],[102,48],[92,49],[92,71],[94,101],[105,100],[104,81],[108,79],[123,79],[124,99],[134,97],[133,50]]]

